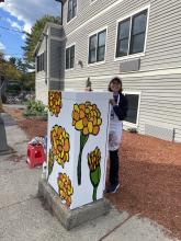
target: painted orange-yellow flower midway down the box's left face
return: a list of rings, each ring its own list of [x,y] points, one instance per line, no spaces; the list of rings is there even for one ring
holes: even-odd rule
[[[55,125],[50,131],[50,142],[56,161],[64,168],[64,163],[69,161],[69,134],[61,126]]]

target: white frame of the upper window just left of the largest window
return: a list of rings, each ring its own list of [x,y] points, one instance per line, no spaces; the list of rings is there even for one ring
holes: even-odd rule
[[[97,0],[95,0],[97,1]],[[103,33],[105,32],[105,51],[104,51],[104,60],[101,60],[101,61],[98,61],[98,36],[100,33]],[[90,38],[93,36],[93,35],[97,35],[97,49],[95,49],[95,58],[97,60],[94,62],[89,62],[90,60]],[[105,59],[106,59],[106,41],[108,41],[108,26],[103,26],[94,32],[92,32],[91,34],[89,34],[88,36],[88,67],[89,66],[95,66],[95,65],[101,65],[101,64],[105,64]]]

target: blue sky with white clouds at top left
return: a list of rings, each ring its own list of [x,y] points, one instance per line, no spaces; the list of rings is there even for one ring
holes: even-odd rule
[[[0,3],[0,50],[7,58],[23,56],[21,46],[25,35],[14,31],[30,33],[34,22],[45,14],[59,15],[60,4],[55,0],[4,0]]]

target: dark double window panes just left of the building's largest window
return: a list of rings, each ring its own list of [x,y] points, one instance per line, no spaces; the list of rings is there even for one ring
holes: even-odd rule
[[[89,64],[104,60],[106,30],[101,31],[89,38]]]

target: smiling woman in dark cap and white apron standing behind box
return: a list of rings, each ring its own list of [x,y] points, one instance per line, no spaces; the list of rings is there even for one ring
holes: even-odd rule
[[[122,94],[122,81],[113,78],[109,84],[109,91],[113,92],[111,104],[109,151],[110,151],[110,186],[106,193],[115,193],[118,183],[118,148],[122,139],[123,123],[127,114],[127,100]]]

